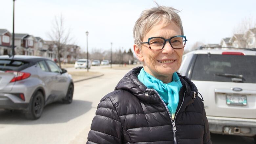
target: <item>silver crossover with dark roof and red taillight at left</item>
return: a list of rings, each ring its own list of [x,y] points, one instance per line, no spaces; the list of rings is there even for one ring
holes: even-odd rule
[[[0,109],[23,110],[27,118],[38,119],[49,103],[71,103],[73,92],[71,75],[50,59],[0,56]]]

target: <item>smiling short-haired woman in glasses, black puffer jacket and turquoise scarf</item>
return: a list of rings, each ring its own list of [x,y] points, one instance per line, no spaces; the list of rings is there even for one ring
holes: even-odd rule
[[[176,72],[187,41],[177,10],[144,10],[133,33],[143,68],[101,99],[87,144],[211,144],[197,88]]]

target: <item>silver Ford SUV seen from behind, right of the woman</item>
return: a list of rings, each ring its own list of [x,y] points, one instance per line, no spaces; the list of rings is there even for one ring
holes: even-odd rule
[[[178,72],[202,94],[210,132],[255,137],[256,51],[223,49],[183,55]]]

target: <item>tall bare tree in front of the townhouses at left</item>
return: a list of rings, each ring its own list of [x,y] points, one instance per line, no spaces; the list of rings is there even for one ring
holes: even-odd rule
[[[64,27],[64,18],[62,14],[60,16],[55,16],[52,24],[52,29],[48,33],[48,36],[57,46],[57,56],[58,56],[58,62],[60,67],[61,67],[60,55],[64,51],[65,45],[71,41],[70,33],[71,33],[70,29],[67,30]]]

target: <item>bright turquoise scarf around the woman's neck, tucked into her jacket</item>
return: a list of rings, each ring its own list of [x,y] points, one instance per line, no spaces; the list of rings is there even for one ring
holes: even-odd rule
[[[165,84],[161,80],[145,72],[142,68],[139,72],[138,79],[147,88],[153,88],[159,93],[174,119],[179,103],[179,92],[182,87],[181,80],[177,72],[173,73],[172,82]]]

